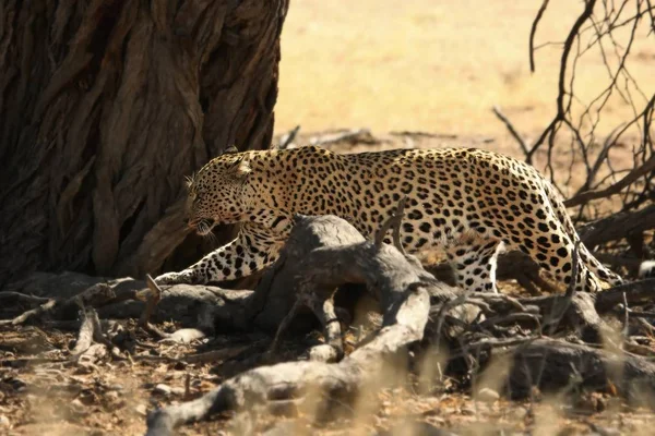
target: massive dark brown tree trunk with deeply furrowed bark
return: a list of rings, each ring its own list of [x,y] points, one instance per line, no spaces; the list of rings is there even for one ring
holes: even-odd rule
[[[287,8],[0,2],[0,287],[200,257],[180,250],[184,175],[231,144],[269,147]]]

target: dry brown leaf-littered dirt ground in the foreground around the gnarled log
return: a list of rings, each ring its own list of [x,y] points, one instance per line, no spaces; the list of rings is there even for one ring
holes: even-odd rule
[[[1,434],[143,434],[148,411],[206,392],[224,379],[222,373],[230,364],[175,362],[176,358],[194,353],[202,346],[164,346],[141,334],[138,335],[138,355],[152,360],[66,362],[73,334],[23,327],[4,328],[2,335],[5,343],[0,372]],[[247,339],[252,340],[216,338],[227,347],[237,342],[243,344]],[[252,347],[258,348],[257,343]],[[8,351],[9,348],[13,351]],[[28,363],[35,352],[44,362]],[[23,360],[16,359],[19,356]],[[163,356],[169,356],[170,361]],[[235,368],[228,371],[231,373]],[[293,421],[262,417],[251,432],[260,434],[273,424],[281,425],[282,421],[293,425],[293,432],[286,434],[370,435],[395,427],[393,434],[404,435],[408,433],[402,431],[403,422],[410,421],[477,435],[500,434],[501,431],[505,434],[588,434],[593,425],[646,435],[651,434],[647,428],[655,422],[647,411],[629,409],[607,395],[584,395],[574,403],[563,403],[557,398],[534,403],[507,399],[476,402],[466,396],[449,393],[448,380],[434,386],[427,395],[418,395],[417,389],[418,384],[407,383],[402,388],[385,390],[378,397],[377,404],[367,405],[372,413],[346,416],[336,424],[312,424],[302,414]],[[179,433],[204,435],[221,431],[239,434],[238,427],[227,426],[222,420],[182,427]]]

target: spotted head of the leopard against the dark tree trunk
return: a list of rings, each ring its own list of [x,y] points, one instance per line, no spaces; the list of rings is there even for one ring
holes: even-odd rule
[[[250,209],[247,186],[251,171],[248,153],[228,150],[188,179],[189,227],[205,235],[216,225],[241,221]]]

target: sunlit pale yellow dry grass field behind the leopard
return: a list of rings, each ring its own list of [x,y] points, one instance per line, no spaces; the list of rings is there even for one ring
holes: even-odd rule
[[[369,126],[505,135],[490,111],[500,105],[523,133],[534,135],[555,113],[561,51],[540,49],[537,72],[529,73],[527,40],[540,4],[294,1],[283,32],[276,130],[300,124],[305,131]],[[563,40],[582,7],[550,1],[537,44]],[[629,68],[648,94],[655,90],[655,47],[643,38],[646,31],[642,26]],[[579,97],[588,100],[607,81],[598,51],[585,57],[577,75]],[[612,99],[602,132],[630,114],[630,107]]]

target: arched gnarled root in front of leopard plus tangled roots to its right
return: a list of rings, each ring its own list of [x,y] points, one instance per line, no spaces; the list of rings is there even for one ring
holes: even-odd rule
[[[570,384],[572,374],[584,368],[564,364],[567,359],[568,363],[603,365],[629,358],[627,364],[631,371],[623,373],[623,378],[606,378],[605,385],[596,385],[603,375],[594,375],[595,378],[580,382],[581,387],[607,387],[608,383],[629,387],[639,377],[655,371],[648,361],[624,355],[620,350],[612,354],[544,337],[568,330],[577,332],[582,340],[600,342],[605,334],[610,334],[610,328],[599,317],[596,305],[609,311],[619,302],[618,292],[643,298],[643,282],[611,290],[607,296],[573,292],[525,299],[485,293],[467,295],[436,281],[414,257],[389,245],[361,241],[358,235],[350,239],[353,234],[349,225],[336,218],[299,219],[285,247],[284,264],[274,268],[274,277],[266,282],[271,287],[279,280],[287,292],[299,299],[284,318],[278,336],[299,306],[313,306],[315,312],[317,303],[331,301],[334,289],[343,283],[366,283],[379,299],[383,313],[382,328],[372,339],[364,341],[364,346],[335,364],[289,362],[245,372],[200,399],[156,411],[148,419],[148,434],[169,434],[176,425],[226,410],[250,410],[258,405],[278,409],[282,403],[296,407],[294,404],[308,400],[308,392],[321,392],[319,397],[325,399],[325,404],[333,404],[335,400],[353,404],[362,395],[362,387],[371,395],[376,391],[370,386],[373,380],[381,386],[383,366],[391,355],[406,359],[407,346],[421,339],[425,343],[450,343],[450,361],[462,358],[476,361],[475,365],[464,367],[479,373],[493,356],[510,355],[515,364],[508,375],[507,386],[514,396],[529,392],[526,386],[544,389],[570,386],[562,380]],[[317,241],[324,245],[308,251]],[[298,253],[300,257],[296,257]],[[633,298],[628,300],[633,301]],[[516,335],[511,326],[521,326],[523,334]],[[323,327],[325,337],[338,342],[335,331],[327,330],[324,323]],[[340,350],[338,344],[336,349]],[[557,352],[551,353],[552,350]],[[538,377],[544,374],[540,365],[544,362],[549,365],[550,361],[553,364],[549,371],[556,375]]]

